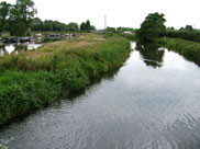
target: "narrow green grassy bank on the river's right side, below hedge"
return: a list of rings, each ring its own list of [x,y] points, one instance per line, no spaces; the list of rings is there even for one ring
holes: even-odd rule
[[[159,38],[160,46],[182,55],[186,59],[200,66],[200,44],[180,38]]]

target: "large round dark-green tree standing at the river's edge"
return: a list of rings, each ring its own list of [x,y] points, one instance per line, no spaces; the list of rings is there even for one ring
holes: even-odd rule
[[[163,13],[151,13],[136,31],[136,37],[141,43],[153,43],[157,37],[164,36],[166,32],[165,15]]]

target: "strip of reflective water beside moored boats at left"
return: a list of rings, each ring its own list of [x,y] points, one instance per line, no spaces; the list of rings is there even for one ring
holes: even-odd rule
[[[36,49],[42,44],[36,44],[36,43],[25,43],[25,44],[3,44],[0,45],[0,57],[10,55],[10,54],[19,54],[22,51],[27,51],[31,49]]]

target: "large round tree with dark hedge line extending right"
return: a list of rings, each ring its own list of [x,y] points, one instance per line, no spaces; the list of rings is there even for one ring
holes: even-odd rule
[[[191,25],[186,25],[180,30],[165,26],[165,14],[163,13],[149,13],[144,22],[141,24],[141,28],[136,31],[136,38],[140,43],[155,43],[159,37],[174,37],[182,38],[191,42],[200,42],[200,31],[195,30]]]

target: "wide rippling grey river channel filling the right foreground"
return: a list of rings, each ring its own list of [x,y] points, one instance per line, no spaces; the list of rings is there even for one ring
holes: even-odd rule
[[[9,149],[199,149],[200,68],[165,48],[133,50],[123,67],[79,95],[1,127],[0,144]]]

